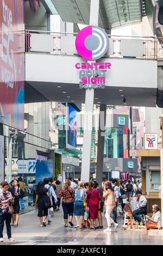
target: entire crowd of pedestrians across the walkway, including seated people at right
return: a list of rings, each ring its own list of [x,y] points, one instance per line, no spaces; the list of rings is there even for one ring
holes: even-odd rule
[[[0,242],[3,241],[4,222],[7,226],[7,235],[10,241],[11,225],[18,227],[20,200],[24,197],[25,187],[23,181],[12,180],[1,183],[0,191]],[[106,218],[107,227],[104,232],[116,230],[117,212],[124,214],[124,206],[130,204],[132,197],[137,197],[137,209],[133,211],[133,218],[142,222],[142,215],[146,216],[147,229],[161,229],[161,212],[158,205],[152,206],[152,217],[147,215],[147,200],[142,195],[142,184],[135,181],[118,179],[103,180],[102,184],[96,181],[82,182],[80,179],[66,180],[62,187],[57,179],[46,178],[40,181],[36,189],[35,209],[40,219],[40,227],[52,223],[54,211],[64,212],[64,227],[71,225],[74,229],[89,228],[92,230],[103,229],[103,215]],[[73,224],[73,216],[76,224]],[[114,229],[111,228],[114,227]]]

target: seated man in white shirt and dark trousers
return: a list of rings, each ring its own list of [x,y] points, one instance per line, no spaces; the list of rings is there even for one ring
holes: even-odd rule
[[[141,191],[136,192],[137,200],[139,202],[139,209],[133,211],[135,221],[142,222],[140,214],[147,215],[147,199],[142,195]]]

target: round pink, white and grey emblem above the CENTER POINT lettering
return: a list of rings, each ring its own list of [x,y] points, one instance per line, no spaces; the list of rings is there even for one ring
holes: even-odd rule
[[[109,48],[109,38],[104,29],[97,26],[83,28],[76,38],[76,49],[87,60],[97,60],[104,56]]]

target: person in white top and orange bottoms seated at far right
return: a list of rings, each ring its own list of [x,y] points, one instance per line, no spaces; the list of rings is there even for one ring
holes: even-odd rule
[[[146,216],[149,222],[146,224],[147,229],[162,229],[161,227],[161,212],[158,205],[152,205],[153,215],[152,217]]]

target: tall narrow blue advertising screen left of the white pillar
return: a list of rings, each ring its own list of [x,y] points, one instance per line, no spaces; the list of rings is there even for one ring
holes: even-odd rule
[[[67,148],[77,147],[77,111],[70,104],[67,105]]]

